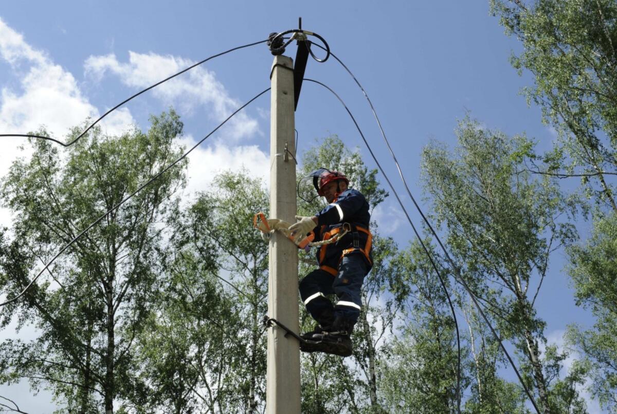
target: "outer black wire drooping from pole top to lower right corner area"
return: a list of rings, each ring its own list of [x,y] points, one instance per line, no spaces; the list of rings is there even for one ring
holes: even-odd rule
[[[315,46],[317,46],[318,48],[324,49],[319,44],[315,44]],[[392,151],[392,147],[390,146],[390,143],[389,143],[389,141],[386,138],[386,133],[384,132],[383,127],[381,126],[381,122],[379,121],[379,117],[377,116],[377,112],[375,110],[375,107],[373,106],[373,102],[371,102],[371,99],[368,97],[368,94],[366,93],[366,91],[362,87],[362,85],[360,85],[360,81],[357,80],[357,78],[355,77],[354,73],[352,73],[351,70],[349,70],[349,68],[342,62],[341,59],[339,59],[335,54],[333,54],[331,51],[329,51],[329,48],[328,48],[328,52],[329,52],[329,54],[332,55],[332,57],[334,57],[334,59],[336,59],[337,62],[339,62],[339,64],[341,64],[341,66],[347,71],[347,73],[349,73],[349,75],[354,79],[355,83],[358,85],[358,87],[360,88],[360,90],[362,91],[364,96],[366,97],[366,101],[368,101],[368,104],[371,107],[371,112],[373,112],[373,117],[375,117],[377,125],[379,126],[379,131],[381,131],[381,136],[383,136],[383,139],[386,142],[386,146],[387,146],[388,150],[390,151],[390,154],[392,155],[392,159],[394,159],[394,164],[396,165],[396,168],[397,168],[397,170],[399,172],[400,179],[403,181],[403,184],[405,186],[405,190],[407,191],[408,196],[410,197],[410,199],[412,199],[412,202],[415,205],[416,210],[418,210],[418,212],[420,213],[422,219],[424,220],[424,223],[426,223],[426,225],[428,226],[429,230],[431,230],[431,233],[436,238],[437,243],[439,243],[439,246],[441,247],[442,251],[445,254],[446,260],[448,261],[450,267],[452,267],[452,269],[455,272],[455,276],[456,276],[455,279],[458,281],[458,283],[460,283],[463,286],[463,288],[465,288],[465,290],[467,291],[467,293],[471,297],[471,300],[473,300],[473,303],[476,305],[476,308],[478,308],[478,312],[482,316],[482,319],[484,319],[484,321],[487,323],[487,325],[491,329],[491,332],[492,332],[493,336],[495,337],[495,339],[497,339],[497,342],[499,342],[499,345],[500,345],[501,349],[503,350],[503,353],[508,358],[508,361],[510,362],[510,365],[512,366],[513,370],[516,373],[516,376],[518,377],[518,380],[520,381],[521,385],[523,386],[523,389],[524,389],[525,393],[529,397],[529,400],[531,400],[531,404],[536,409],[536,412],[540,413],[540,410],[539,410],[539,408],[537,407],[537,404],[536,404],[536,400],[534,400],[533,395],[531,394],[531,392],[529,391],[528,387],[524,383],[523,378],[521,377],[520,373],[518,372],[518,369],[516,368],[515,363],[513,362],[512,358],[510,357],[510,354],[508,354],[508,351],[505,349],[505,346],[503,346],[502,340],[500,339],[499,335],[495,332],[495,329],[493,328],[493,326],[489,322],[488,318],[486,317],[486,315],[482,311],[478,301],[476,300],[476,297],[474,296],[473,292],[469,288],[468,284],[465,282],[465,280],[460,275],[460,271],[458,269],[458,266],[455,265],[455,263],[453,262],[452,258],[450,257],[450,254],[448,253],[447,249],[445,249],[444,244],[441,242],[441,239],[437,235],[437,232],[434,230],[434,228],[431,225],[430,221],[428,220],[428,218],[426,218],[426,216],[424,215],[424,212],[420,208],[420,205],[418,205],[418,203],[416,202],[415,198],[413,197],[412,192],[410,191],[409,186],[407,185],[407,181],[405,181],[405,176],[402,173],[402,170],[400,168],[399,162],[396,159],[396,155],[394,154],[394,151]],[[459,402],[459,404],[460,404],[460,402]],[[459,408],[459,411],[460,411],[460,408]]]

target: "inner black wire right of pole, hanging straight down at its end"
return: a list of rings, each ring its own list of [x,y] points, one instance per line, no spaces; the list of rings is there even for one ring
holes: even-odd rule
[[[442,288],[444,289],[444,292],[445,292],[445,296],[448,299],[448,304],[450,305],[450,310],[452,311],[452,318],[454,319],[454,325],[456,326],[456,331],[457,331],[457,350],[458,350],[457,404],[458,404],[458,412],[460,412],[460,391],[459,391],[459,389],[460,389],[460,365],[461,365],[460,334],[458,333],[457,315],[456,315],[456,312],[454,310],[454,305],[452,304],[452,300],[450,299],[450,294],[449,294],[447,288],[445,288],[444,278],[442,278],[441,272],[439,271],[439,269],[437,269],[437,265],[436,265],[436,263],[433,260],[433,256],[429,253],[428,248],[424,245],[424,242],[422,241],[422,238],[420,237],[420,233],[418,233],[418,230],[416,230],[416,226],[413,225],[413,221],[409,217],[409,214],[407,213],[407,210],[405,209],[405,206],[403,205],[403,202],[400,201],[399,194],[394,189],[394,186],[390,182],[390,179],[386,175],[386,172],[384,172],[383,168],[381,168],[381,164],[379,164],[379,161],[377,160],[377,157],[373,153],[373,149],[371,149],[371,146],[368,144],[368,141],[366,141],[366,138],[365,138],[364,134],[362,133],[362,130],[360,129],[360,126],[356,122],[356,120],[354,118],[354,115],[352,115],[351,111],[349,110],[349,108],[347,107],[345,102],[341,99],[340,96],[338,96],[338,94],[336,92],[333,91],[333,89],[331,89],[329,86],[325,85],[324,83],[321,83],[320,81],[317,81],[317,80],[308,79],[308,78],[304,78],[304,80],[305,81],[309,81],[309,82],[313,82],[313,83],[317,83],[318,85],[321,85],[324,88],[328,89],[328,91],[330,91],[332,94],[334,94],[334,96],[336,96],[336,98],[339,100],[339,102],[341,102],[342,106],[345,107],[345,110],[347,111],[347,114],[349,114],[349,116],[351,117],[352,121],[354,122],[355,127],[357,128],[358,132],[360,133],[360,136],[362,136],[362,140],[364,141],[364,144],[366,145],[366,148],[368,149],[368,152],[370,152],[371,157],[373,157],[373,160],[375,161],[375,164],[379,168],[379,171],[381,172],[381,174],[384,176],[384,178],[386,178],[386,181],[387,181],[388,185],[392,189],[392,193],[394,193],[394,196],[396,197],[397,201],[399,202],[399,205],[400,205],[401,209],[403,209],[403,212],[405,213],[405,217],[407,217],[407,221],[409,221],[409,224],[412,225],[413,233],[415,233],[416,238],[418,238],[418,241],[420,241],[420,245],[422,246],[422,249],[426,253],[426,256],[428,257],[429,261],[431,262],[431,265],[433,266],[433,269],[435,270],[435,273],[437,273],[437,277],[439,278],[439,283],[441,283],[441,286],[442,286]]]

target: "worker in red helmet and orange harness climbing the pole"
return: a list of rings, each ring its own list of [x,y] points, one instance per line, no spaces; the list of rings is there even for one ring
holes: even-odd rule
[[[313,231],[315,241],[320,241],[347,233],[318,249],[319,268],[300,281],[300,297],[318,323],[302,334],[305,341],[300,349],[346,357],[352,354],[350,334],[362,309],[362,283],[373,265],[371,216],[363,194],[348,188],[349,180],[342,173],[320,168],[310,176],[328,205],[313,217],[296,216],[297,223],[289,227],[292,237],[301,239]],[[336,295],[336,303],[328,299],[329,294]]]

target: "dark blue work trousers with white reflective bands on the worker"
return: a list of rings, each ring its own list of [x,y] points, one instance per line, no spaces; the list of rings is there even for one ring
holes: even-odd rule
[[[368,271],[360,254],[344,256],[336,276],[316,269],[300,281],[300,297],[313,319],[321,323],[322,315],[341,316],[354,325],[360,316],[360,289]],[[326,297],[336,294],[336,304]]]

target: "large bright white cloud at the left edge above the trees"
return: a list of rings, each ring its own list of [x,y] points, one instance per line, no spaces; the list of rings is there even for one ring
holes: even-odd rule
[[[86,118],[96,118],[99,110],[83,96],[70,72],[55,64],[43,51],[30,46],[23,36],[0,19],[0,62],[9,64],[9,73],[17,77],[18,86],[2,86],[0,91],[0,131],[24,134],[44,126],[54,138],[64,139],[69,128]],[[133,124],[128,109],[114,111],[101,122],[103,131],[118,134]],[[24,138],[2,138],[0,176],[18,156]],[[0,226],[10,226],[10,214],[0,209]]]

